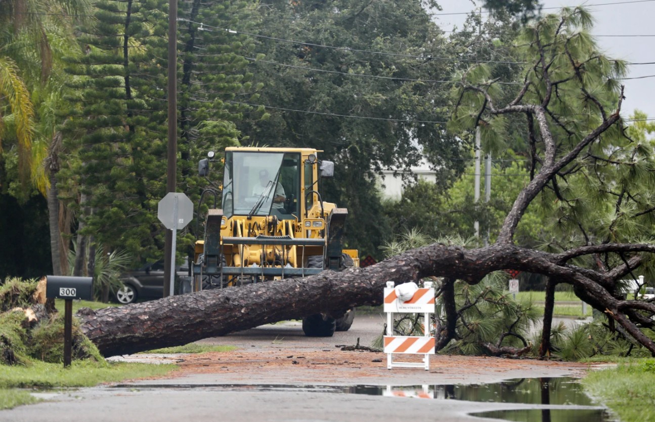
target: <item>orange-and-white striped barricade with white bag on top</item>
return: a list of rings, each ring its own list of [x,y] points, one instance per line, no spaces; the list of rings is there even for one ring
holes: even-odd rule
[[[386,336],[384,336],[384,353],[386,368],[424,368],[430,369],[430,355],[434,355],[434,337],[430,330],[423,330],[423,336],[394,336],[394,313],[422,313],[424,327],[430,326],[430,314],[434,313],[434,288],[432,282],[425,282],[407,301],[396,295],[394,282],[386,283],[384,288],[384,312],[386,313]],[[395,354],[423,355],[422,362],[394,362]]]

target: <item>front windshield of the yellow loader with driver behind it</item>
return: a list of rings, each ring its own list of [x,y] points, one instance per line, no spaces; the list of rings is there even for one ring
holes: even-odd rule
[[[297,216],[299,154],[229,151],[225,155],[223,213]]]

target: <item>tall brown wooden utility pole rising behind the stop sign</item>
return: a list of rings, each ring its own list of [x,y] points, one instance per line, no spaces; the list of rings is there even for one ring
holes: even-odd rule
[[[176,191],[178,173],[178,0],[168,0],[168,165],[166,193]],[[166,230],[164,242],[164,297],[170,292],[174,230]]]

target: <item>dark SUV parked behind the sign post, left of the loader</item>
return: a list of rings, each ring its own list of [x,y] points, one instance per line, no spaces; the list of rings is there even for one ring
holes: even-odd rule
[[[189,264],[183,263],[176,268],[176,280],[191,280]],[[136,299],[161,299],[164,296],[164,261],[145,265],[140,269],[121,275],[123,287],[114,297],[120,303],[132,303]],[[186,284],[186,283],[176,283]]]

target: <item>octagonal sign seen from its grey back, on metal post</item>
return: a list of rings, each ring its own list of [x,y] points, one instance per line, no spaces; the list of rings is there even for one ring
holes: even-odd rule
[[[178,230],[183,229],[193,219],[193,202],[183,193],[169,192],[159,201],[157,218],[166,229],[173,231],[173,242],[170,254],[170,279],[168,280],[169,296],[175,290],[175,250],[178,240]],[[164,257],[166,259],[168,257]]]

